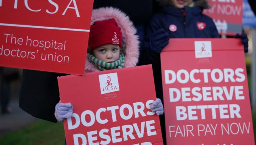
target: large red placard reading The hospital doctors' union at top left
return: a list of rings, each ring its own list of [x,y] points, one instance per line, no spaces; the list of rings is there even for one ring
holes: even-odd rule
[[[1,0],[0,66],[84,74],[93,0]]]

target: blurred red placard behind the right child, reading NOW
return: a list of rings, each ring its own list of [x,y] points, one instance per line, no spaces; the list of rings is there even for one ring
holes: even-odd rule
[[[235,35],[242,31],[243,0],[209,0],[211,8],[204,14],[213,18],[220,34]]]

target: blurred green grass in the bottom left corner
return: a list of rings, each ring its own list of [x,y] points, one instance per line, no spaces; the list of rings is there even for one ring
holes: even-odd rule
[[[63,123],[39,120],[0,137],[0,145],[64,145]]]

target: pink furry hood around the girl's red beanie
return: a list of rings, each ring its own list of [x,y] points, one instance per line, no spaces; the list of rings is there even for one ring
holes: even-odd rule
[[[114,18],[119,27],[121,27],[122,39],[124,45],[126,46],[124,50],[124,68],[136,66],[138,62],[139,50],[138,50],[138,36],[135,35],[136,29],[133,26],[132,21],[130,21],[129,17],[117,8],[106,7],[106,8],[98,8],[92,11],[92,20],[91,25],[94,24],[95,21],[103,21]],[[86,57],[86,64],[84,68],[85,72],[95,72],[100,71],[97,66],[92,64],[88,60],[88,54]]]

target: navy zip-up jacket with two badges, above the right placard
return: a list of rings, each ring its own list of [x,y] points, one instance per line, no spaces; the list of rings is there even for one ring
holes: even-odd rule
[[[184,9],[164,7],[151,19],[147,33],[151,35],[159,28],[164,28],[169,32],[170,38],[218,37],[218,31],[212,18],[202,14],[202,10],[199,6],[193,8],[185,6]],[[204,22],[206,28],[199,30],[197,28],[198,22]],[[175,25],[177,30],[170,31],[170,25]]]

